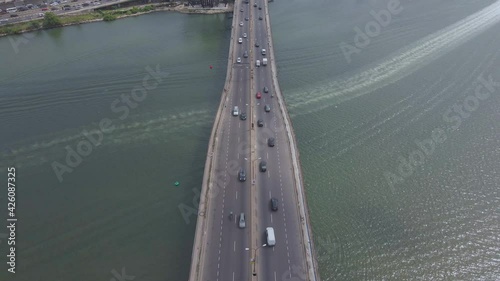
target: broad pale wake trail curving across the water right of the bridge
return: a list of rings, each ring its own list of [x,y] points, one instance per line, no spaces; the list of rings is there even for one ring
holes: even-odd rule
[[[396,55],[387,58],[375,67],[351,78],[333,81],[307,95],[297,93],[290,96],[288,98],[289,107],[292,112],[298,112],[292,115],[316,112],[394,83],[469,41],[499,21],[500,2],[497,1],[455,24],[401,49],[396,52]],[[325,94],[325,90],[329,93]],[[336,102],[328,103],[330,100],[336,100]],[[312,104],[317,106],[304,112],[294,110]]]

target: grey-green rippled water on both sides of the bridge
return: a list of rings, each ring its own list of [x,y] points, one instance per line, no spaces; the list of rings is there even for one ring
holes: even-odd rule
[[[500,88],[469,114],[448,112],[473,100],[479,77],[500,81],[498,5],[401,1],[348,61],[340,44],[387,1],[271,3],[323,280],[500,278]],[[14,280],[122,268],[187,279],[195,218],[179,206],[196,204],[229,28],[223,15],[156,13],[35,33],[17,53],[0,39],[0,166],[14,163],[19,185]],[[121,120],[110,105],[156,64],[168,77]],[[115,130],[59,182],[51,163],[103,118]]]

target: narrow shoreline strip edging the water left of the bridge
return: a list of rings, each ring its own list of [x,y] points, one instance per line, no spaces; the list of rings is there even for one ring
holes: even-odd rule
[[[81,20],[81,21],[76,21],[76,22],[71,22],[71,23],[65,23],[65,24],[62,24],[61,26],[52,27],[52,28],[62,28],[62,27],[66,27],[66,26],[73,26],[73,25],[79,25],[79,24],[104,21],[104,15],[106,15],[108,13],[126,13],[127,11],[130,11],[134,8],[141,9],[141,8],[144,8],[147,6],[154,7],[154,8],[152,10],[149,10],[149,11],[137,12],[134,14],[116,15],[116,19],[114,19],[114,20],[119,20],[119,19],[128,18],[128,17],[137,17],[137,16],[141,16],[144,14],[154,13],[154,12],[177,12],[177,13],[182,13],[182,14],[204,14],[204,15],[228,14],[228,13],[233,12],[234,4],[230,3],[230,4],[227,4],[227,7],[225,7],[225,8],[215,8],[214,9],[214,8],[187,7],[187,6],[184,6],[184,4],[179,4],[179,5],[176,5],[174,7],[170,7],[170,6],[165,5],[164,3],[160,3],[160,4],[130,6],[127,8],[121,8],[121,9],[116,9],[116,10],[103,10],[103,11],[83,12],[83,13],[78,13],[78,14],[67,14],[67,15],[61,15],[58,17],[61,19],[70,19],[70,18],[77,18],[79,16],[98,16],[99,15],[99,18]],[[0,37],[11,36],[11,35],[21,35],[21,34],[27,33],[27,32],[52,29],[52,28],[46,28],[46,27],[41,26],[42,22],[43,22],[43,18],[40,18],[40,19],[33,19],[33,20],[29,20],[29,21],[23,21],[23,22],[18,22],[18,23],[14,23],[14,24],[6,24],[4,26],[0,26],[0,32],[2,32],[1,30],[5,29],[5,28],[14,28],[15,29],[15,28],[19,28],[23,25],[27,25],[30,23],[40,23],[40,26],[38,28],[22,29],[22,30],[16,31],[14,33],[0,33]]]

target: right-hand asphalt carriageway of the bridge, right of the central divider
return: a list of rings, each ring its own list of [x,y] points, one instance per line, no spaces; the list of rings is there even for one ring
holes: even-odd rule
[[[266,17],[264,14],[264,0],[256,0],[255,9],[255,40],[260,44],[256,49],[255,59],[262,62],[264,57],[269,60],[269,34],[266,29]],[[259,17],[262,20],[259,20]],[[261,51],[265,48],[266,55]],[[270,62],[269,62],[270,63]],[[284,117],[278,110],[278,102],[272,87],[271,67],[256,67],[255,72],[256,89],[262,92],[264,87],[269,88],[269,93],[263,93],[262,100],[256,106],[255,114],[264,120],[264,129],[257,133],[257,157],[267,162],[267,172],[262,173],[257,169],[258,193],[258,233],[265,241],[266,227],[273,227],[276,236],[276,246],[264,247],[257,252],[259,265],[258,280],[306,280],[306,257],[303,251],[304,245],[301,238],[300,216],[295,195],[292,158],[290,146],[288,145],[286,131],[284,130]],[[270,112],[264,111],[264,105],[271,106]],[[267,138],[275,138],[275,146],[269,147]],[[278,211],[271,211],[270,199],[277,198],[279,201]],[[293,279],[297,278],[297,279]]]

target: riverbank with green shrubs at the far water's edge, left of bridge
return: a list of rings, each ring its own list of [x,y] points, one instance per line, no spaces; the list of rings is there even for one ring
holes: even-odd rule
[[[99,11],[82,12],[78,14],[60,15],[57,16],[57,18],[60,19],[60,24],[58,24],[57,26],[46,25],[44,23],[44,19],[42,18],[0,26],[0,37],[22,34],[25,32],[32,32],[42,29],[78,25],[78,24],[91,23],[97,21],[114,21],[117,19],[140,16],[143,14],[149,14],[152,12],[162,12],[162,11],[178,12],[185,14],[232,13],[233,4],[227,4],[227,6],[221,5],[217,8],[201,8],[196,6],[195,7],[185,6],[182,3],[175,3],[175,4],[159,3],[150,5],[132,6],[116,10],[99,10]]]

